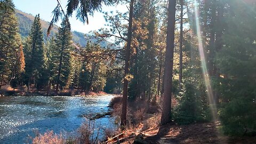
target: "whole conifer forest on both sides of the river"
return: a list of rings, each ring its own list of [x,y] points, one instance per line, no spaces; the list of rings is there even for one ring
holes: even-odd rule
[[[117,4],[129,11],[101,10]],[[145,128],[146,122],[145,130],[156,126],[159,131],[210,124],[216,137],[233,141],[169,138],[162,143],[256,142],[256,1],[69,0],[63,6],[56,0],[49,11],[47,36],[40,14],[28,35],[21,36],[14,3],[0,1],[1,95],[119,94],[110,102],[119,133],[141,124]],[[89,19],[96,11],[102,11],[107,27],[87,34],[94,42],[74,42],[69,18],[76,13],[86,25],[97,19]],[[53,33],[58,21],[61,26]],[[134,143],[161,143],[135,135]],[[91,137],[93,132],[79,142],[95,143]]]

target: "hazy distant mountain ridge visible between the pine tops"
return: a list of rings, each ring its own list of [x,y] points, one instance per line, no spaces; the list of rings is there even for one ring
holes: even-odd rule
[[[26,37],[29,35],[31,25],[32,25],[35,17],[34,17],[34,15],[22,12],[17,9],[15,9],[15,12],[16,12],[18,22],[19,22],[20,35],[22,37]],[[42,24],[42,28],[43,28],[44,38],[46,38],[46,31],[50,25],[50,22],[47,22],[47,21],[44,21],[41,19],[41,24]],[[54,34],[57,32],[58,32],[58,26],[54,25],[51,30],[50,36],[54,36]],[[78,31],[72,31],[72,34],[73,34],[73,41],[83,47],[86,46],[88,41],[96,42],[96,39],[89,38],[84,33],[80,33]],[[110,43],[109,42],[101,42],[100,43],[100,45],[102,47],[106,47],[108,44],[110,44]]]

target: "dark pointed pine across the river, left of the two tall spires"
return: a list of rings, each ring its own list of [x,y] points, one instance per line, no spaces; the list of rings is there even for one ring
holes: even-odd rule
[[[39,14],[36,15],[33,25],[31,26],[29,36],[25,43],[25,49],[25,75],[28,79],[27,91],[29,91],[30,84],[33,81],[35,85],[38,83],[38,78],[42,76],[42,71],[45,66],[43,31]]]

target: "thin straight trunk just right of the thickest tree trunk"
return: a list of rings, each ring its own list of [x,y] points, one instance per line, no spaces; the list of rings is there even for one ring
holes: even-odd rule
[[[183,0],[180,0],[180,67],[179,67],[179,89],[182,89],[182,67],[183,67]]]

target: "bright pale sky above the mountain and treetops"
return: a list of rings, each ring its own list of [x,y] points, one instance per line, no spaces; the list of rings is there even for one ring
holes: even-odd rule
[[[60,0],[60,2],[63,9],[66,9],[68,0]],[[49,22],[52,20],[52,11],[54,7],[56,7],[58,4],[56,0],[13,0],[13,3],[16,9],[21,10],[22,12],[32,14],[34,16],[39,13],[41,19]],[[115,12],[116,10],[120,12],[128,11],[126,5],[102,6],[102,11],[104,12]],[[91,30],[98,30],[102,27],[105,27],[105,19],[103,18],[103,14],[100,12],[95,12],[93,17],[89,17],[89,25],[87,25],[86,23],[83,24],[79,20],[76,20],[75,12],[72,18],[69,19],[69,21],[72,30],[79,31],[85,34],[87,34]],[[60,26],[60,23],[61,21],[55,24]]]

